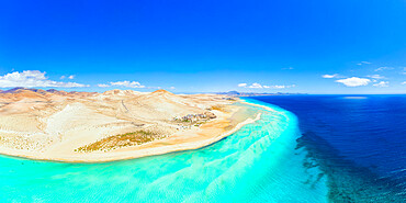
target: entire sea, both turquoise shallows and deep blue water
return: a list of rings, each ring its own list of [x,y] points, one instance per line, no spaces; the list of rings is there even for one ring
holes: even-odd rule
[[[103,163],[0,156],[0,202],[404,202],[406,97],[245,98],[261,120],[196,150]]]

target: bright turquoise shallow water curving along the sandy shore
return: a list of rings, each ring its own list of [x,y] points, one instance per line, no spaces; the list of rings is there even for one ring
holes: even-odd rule
[[[0,202],[327,202],[326,178],[295,149],[296,117],[271,108],[198,150],[105,163],[1,156]]]

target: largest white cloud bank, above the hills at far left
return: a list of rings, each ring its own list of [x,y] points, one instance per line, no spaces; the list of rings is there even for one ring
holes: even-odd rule
[[[48,80],[45,77],[46,72],[40,70],[24,70],[22,72],[14,71],[0,76],[0,88],[12,88],[12,87],[63,87],[63,88],[82,88],[89,87],[88,84],[76,83],[76,82],[60,82]]]

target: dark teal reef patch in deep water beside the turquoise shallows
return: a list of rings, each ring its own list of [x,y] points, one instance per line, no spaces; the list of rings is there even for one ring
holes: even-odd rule
[[[300,148],[305,148],[308,153],[303,165],[306,168],[318,166],[327,176],[328,198],[331,202],[404,202],[406,200],[405,188],[402,188],[402,184],[388,178],[380,178],[366,167],[357,166],[340,156],[327,140],[313,132],[306,132],[297,138],[296,149]]]

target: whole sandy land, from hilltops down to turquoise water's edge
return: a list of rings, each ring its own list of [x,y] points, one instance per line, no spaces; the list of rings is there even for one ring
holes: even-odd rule
[[[261,116],[244,113],[252,104],[238,99],[165,90],[75,94],[18,90],[0,99],[0,154],[66,162],[196,149]]]

